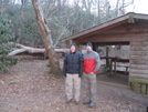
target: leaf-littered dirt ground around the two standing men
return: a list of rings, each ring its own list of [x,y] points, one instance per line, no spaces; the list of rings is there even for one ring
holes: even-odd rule
[[[83,83],[83,82],[82,82]],[[96,106],[65,103],[64,79],[49,74],[47,60],[23,59],[0,73],[0,112],[146,112],[148,95],[97,82]]]

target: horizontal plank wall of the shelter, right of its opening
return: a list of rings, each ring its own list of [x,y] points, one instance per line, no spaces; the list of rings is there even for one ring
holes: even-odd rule
[[[131,90],[148,94],[148,35],[131,39],[129,68]]]

